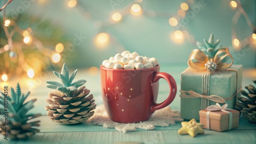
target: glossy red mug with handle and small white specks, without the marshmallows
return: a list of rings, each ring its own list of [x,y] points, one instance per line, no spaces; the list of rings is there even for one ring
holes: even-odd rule
[[[110,69],[100,66],[103,103],[110,119],[118,123],[147,121],[155,110],[173,102],[177,85],[172,76],[159,72],[160,66],[147,69]],[[170,88],[168,98],[157,104],[159,79]]]

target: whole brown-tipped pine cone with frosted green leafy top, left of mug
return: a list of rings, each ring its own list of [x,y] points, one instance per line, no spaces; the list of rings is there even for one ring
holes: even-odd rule
[[[96,105],[94,104],[93,95],[85,86],[86,80],[78,80],[72,83],[77,73],[77,69],[73,71],[69,77],[69,69],[63,64],[61,73],[53,71],[53,74],[61,81],[48,81],[47,87],[57,89],[49,93],[49,106],[46,106],[47,115],[54,122],[60,124],[77,124],[86,121],[93,116]],[[81,87],[80,87],[81,86]],[[80,87],[80,88],[78,88]]]

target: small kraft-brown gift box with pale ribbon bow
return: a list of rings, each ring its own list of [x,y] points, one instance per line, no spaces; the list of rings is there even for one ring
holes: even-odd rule
[[[200,124],[204,125],[204,129],[222,132],[238,127],[239,111],[225,108],[216,111],[207,110],[206,108],[199,111]]]

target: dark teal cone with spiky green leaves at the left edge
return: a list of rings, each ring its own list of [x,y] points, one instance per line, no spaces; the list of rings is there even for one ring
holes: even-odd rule
[[[26,95],[22,94],[20,92],[19,84],[17,84],[16,93],[14,89],[11,88],[11,98],[3,92],[1,93],[3,97],[0,97],[0,106],[4,109],[0,108],[0,115],[3,114],[5,116],[8,116],[8,118],[6,117],[6,119],[8,120],[8,125],[6,125],[5,123],[6,119],[1,119],[1,134],[5,137],[5,134],[7,134],[8,137],[12,139],[25,139],[29,136],[34,135],[36,132],[39,132],[39,130],[35,129],[34,127],[38,127],[38,123],[40,121],[31,122],[31,119],[41,116],[41,114],[27,114],[27,112],[34,107],[33,103],[36,101],[36,99],[24,103],[30,92],[28,92]],[[4,105],[4,100],[8,101],[8,108],[5,107],[6,105]],[[1,118],[2,117],[3,116],[1,116]],[[8,127],[8,133],[6,132],[6,127]]]

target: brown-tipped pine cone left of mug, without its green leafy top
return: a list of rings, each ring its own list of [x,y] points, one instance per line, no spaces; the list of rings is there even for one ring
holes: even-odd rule
[[[93,116],[96,105],[94,104],[93,95],[88,94],[90,90],[81,86],[78,90],[65,94],[59,90],[49,93],[49,99],[46,102],[47,115],[60,124],[77,124],[86,121]]]

